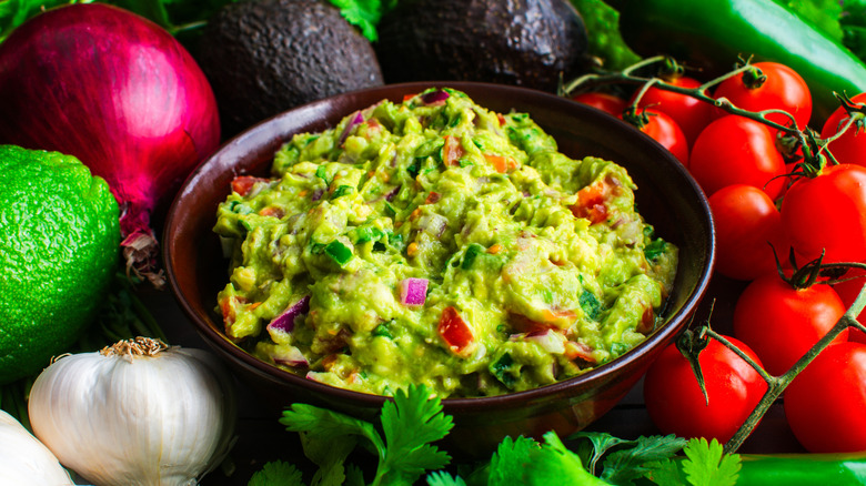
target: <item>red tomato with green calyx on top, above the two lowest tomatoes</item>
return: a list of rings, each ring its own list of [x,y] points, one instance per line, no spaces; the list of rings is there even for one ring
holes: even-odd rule
[[[755,279],[734,306],[734,336],[757,353],[774,375],[794,363],[827,334],[845,305],[829,285],[794,288],[778,275]],[[848,338],[844,331],[834,342]]]

